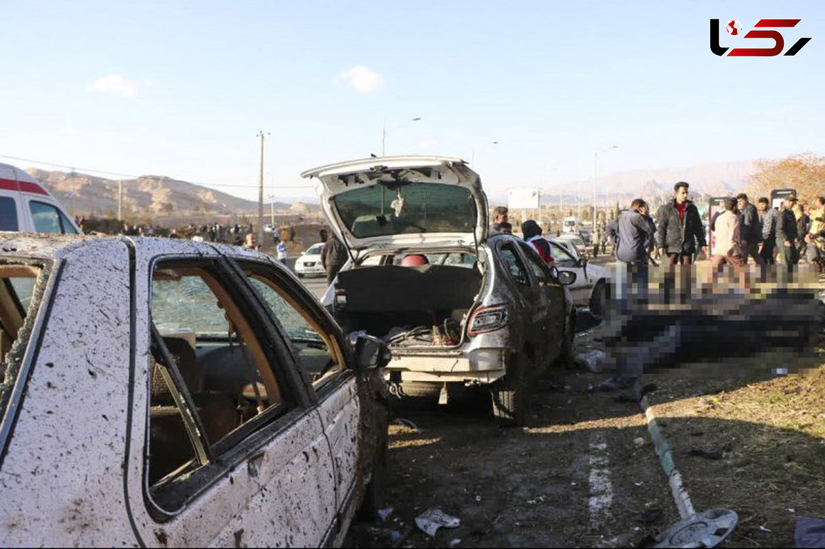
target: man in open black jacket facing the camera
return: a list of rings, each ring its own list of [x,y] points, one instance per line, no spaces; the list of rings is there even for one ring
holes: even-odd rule
[[[667,254],[671,265],[691,265],[697,244],[707,255],[705,226],[699,209],[687,199],[689,186],[685,181],[676,183],[673,201],[664,204],[656,216],[656,245],[662,256]]]

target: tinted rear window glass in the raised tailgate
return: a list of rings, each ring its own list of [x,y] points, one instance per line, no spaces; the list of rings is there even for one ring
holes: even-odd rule
[[[410,232],[474,232],[475,199],[464,187],[440,183],[379,183],[333,197],[356,238]]]

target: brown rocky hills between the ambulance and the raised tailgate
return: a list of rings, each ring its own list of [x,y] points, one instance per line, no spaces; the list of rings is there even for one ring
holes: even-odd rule
[[[118,181],[82,173],[30,168],[31,176],[75,215],[113,216],[117,213]],[[124,215],[163,217],[185,214],[257,214],[255,201],[228,195],[194,183],[166,176],[141,176],[123,183]],[[265,204],[266,213],[271,209]],[[276,202],[278,212],[308,213],[316,204]]]

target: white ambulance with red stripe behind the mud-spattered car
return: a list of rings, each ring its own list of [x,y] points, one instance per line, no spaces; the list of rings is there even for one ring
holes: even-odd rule
[[[43,185],[10,164],[0,164],[0,231],[81,232]]]

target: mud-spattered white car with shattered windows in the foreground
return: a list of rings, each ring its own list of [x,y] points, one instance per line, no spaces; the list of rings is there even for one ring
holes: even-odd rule
[[[386,448],[383,344],[256,252],[0,241],[4,546],[342,543]]]

